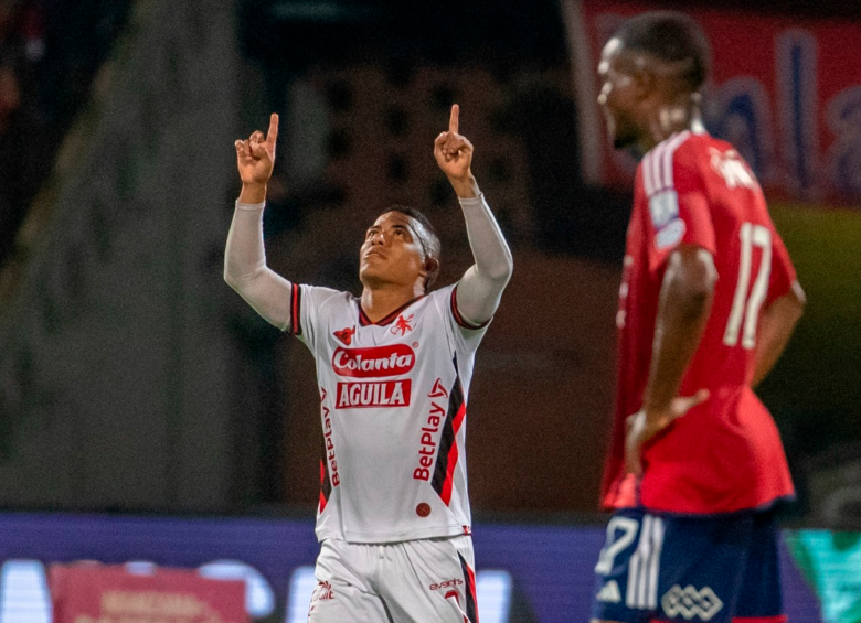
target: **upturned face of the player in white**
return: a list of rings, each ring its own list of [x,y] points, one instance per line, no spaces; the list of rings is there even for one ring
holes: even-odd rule
[[[424,255],[413,219],[402,212],[386,212],[365,232],[359,278],[368,287],[412,286],[425,275]]]

